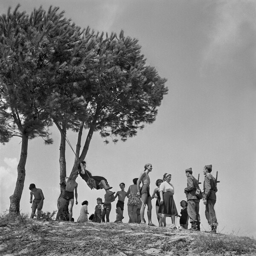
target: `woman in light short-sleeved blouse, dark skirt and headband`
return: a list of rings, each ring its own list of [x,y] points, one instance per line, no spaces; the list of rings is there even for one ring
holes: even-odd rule
[[[166,226],[166,217],[171,217],[172,224],[175,224],[175,218],[177,213],[177,208],[175,205],[175,201],[173,199],[174,195],[174,187],[170,183],[172,179],[172,175],[169,173],[165,173],[163,175],[163,183],[159,187],[160,191],[160,207],[158,214],[163,218],[163,226]]]

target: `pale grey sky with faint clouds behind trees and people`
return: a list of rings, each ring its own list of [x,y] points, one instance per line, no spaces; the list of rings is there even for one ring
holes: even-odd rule
[[[28,13],[41,5],[59,6],[82,28],[117,34],[123,29],[125,36],[139,39],[147,64],[168,79],[169,93],[156,121],[136,137],[105,145],[99,134],[93,134],[85,159],[93,175],[106,177],[115,192],[124,182],[127,191],[145,163],[151,163],[151,194],[155,181],[171,173],[180,212],[185,169],[192,167],[193,175],[200,174],[203,181],[204,166],[212,164],[212,175],[218,171],[220,180],[215,204],[218,231],[256,238],[256,1],[2,0],[1,14],[17,3]],[[44,145],[41,138],[29,141],[22,213],[31,212],[30,183],[44,192],[43,211],[57,209],[60,134],[55,127],[51,132],[52,145]],[[75,148],[76,134],[69,132],[67,137]],[[0,145],[0,212],[9,209],[15,189],[20,145],[17,138]],[[69,174],[74,162],[70,148],[66,160]],[[105,194],[103,189],[90,190],[80,177],[77,182],[75,221],[82,201],[89,201],[91,214],[96,198]],[[110,221],[116,218],[115,204]],[[155,199],[152,204],[157,224]],[[204,211],[201,201],[202,229],[209,230]],[[127,199],[124,217],[128,222]]]

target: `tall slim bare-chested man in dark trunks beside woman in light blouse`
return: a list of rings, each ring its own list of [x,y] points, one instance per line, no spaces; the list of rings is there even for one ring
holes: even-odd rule
[[[138,189],[138,195],[141,195],[141,201],[142,205],[140,208],[140,218],[141,222],[144,223],[144,212],[146,205],[148,206],[148,225],[149,226],[155,226],[151,221],[151,211],[152,211],[152,204],[151,204],[151,196],[149,194],[149,184],[150,184],[150,178],[148,176],[149,172],[152,171],[152,165],[151,163],[147,163],[144,166],[144,171],[140,174],[140,177],[137,180],[137,189]],[[140,182],[142,182],[142,187],[140,189]]]

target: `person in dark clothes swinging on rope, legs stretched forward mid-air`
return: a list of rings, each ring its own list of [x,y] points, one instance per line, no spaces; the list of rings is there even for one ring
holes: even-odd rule
[[[93,189],[93,188],[105,189],[108,196],[115,194],[115,192],[110,191],[112,187],[108,185],[108,181],[105,179],[105,177],[92,176],[92,174],[85,169],[86,168],[85,161],[81,161],[77,167],[78,167],[79,175],[83,180],[85,180],[85,182],[90,187],[90,189]]]

